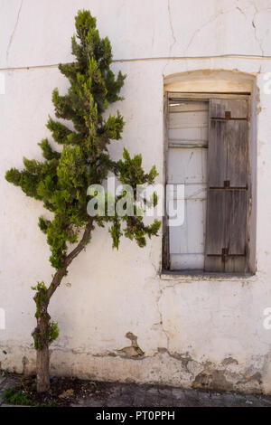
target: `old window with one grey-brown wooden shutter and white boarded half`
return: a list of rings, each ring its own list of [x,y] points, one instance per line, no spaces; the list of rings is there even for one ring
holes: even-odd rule
[[[166,184],[184,184],[184,222],[164,220],[164,269],[249,271],[248,126],[248,95],[167,93]]]

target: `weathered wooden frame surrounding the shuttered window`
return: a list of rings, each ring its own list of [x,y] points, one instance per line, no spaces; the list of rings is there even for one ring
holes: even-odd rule
[[[247,267],[248,271],[244,273],[238,272],[209,272],[204,271],[204,269],[180,269],[180,270],[171,270],[170,269],[170,250],[169,250],[169,227],[168,227],[168,217],[166,215],[166,184],[167,184],[167,171],[168,171],[168,123],[169,123],[169,99],[180,99],[180,100],[192,100],[192,101],[202,101],[207,100],[210,102],[210,99],[247,99],[248,100],[248,208],[247,208]],[[251,118],[253,116],[252,109],[252,93],[251,92],[184,92],[184,91],[165,91],[164,92],[164,218],[163,218],[163,242],[162,242],[162,269],[161,274],[173,274],[173,275],[188,275],[188,276],[247,276],[250,277],[256,273],[256,249],[255,244],[256,240],[253,239],[251,235],[256,234],[256,220],[251,220],[251,211],[253,204],[256,202],[256,199],[253,199],[253,190],[252,183],[256,184],[256,171],[253,172],[252,169],[252,156],[251,153],[255,152],[253,149],[253,144],[256,143],[256,140],[252,138],[251,131]],[[209,120],[209,131],[210,131],[210,120]],[[207,170],[207,173],[209,170]],[[256,196],[255,196],[256,198]],[[208,205],[207,205],[208,212]],[[253,248],[252,249],[252,244]],[[204,247],[205,255],[205,247]]]

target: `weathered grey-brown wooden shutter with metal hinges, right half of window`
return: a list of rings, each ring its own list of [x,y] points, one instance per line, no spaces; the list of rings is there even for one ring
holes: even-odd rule
[[[210,99],[205,270],[247,264],[248,101]]]

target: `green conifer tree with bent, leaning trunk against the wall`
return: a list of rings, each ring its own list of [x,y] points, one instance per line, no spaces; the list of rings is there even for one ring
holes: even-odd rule
[[[76,60],[59,65],[70,81],[70,88],[64,96],[57,89],[52,92],[55,117],[61,121],[49,117],[47,123],[53,140],[61,148],[55,150],[44,138],[39,143],[42,161],[23,157],[23,170],[12,168],[5,175],[8,182],[21,186],[24,194],[42,201],[52,217],[51,220],[40,217],[39,227],[47,236],[55,272],[47,285],[42,281],[33,288],[38,392],[50,388],[49,345],[59,335],[58,325],[48,313],[51,297],[67,275],[71,261],[86,248],[95,226],[108,224],[114,248],[118,248],[122,235],[144,247],[145,237],[157,235],[160,227],[157,220],[145,225],[142,214],[119,216],[115,210],[109,215],[106,209],[103,215],[89,216],[87,212],[89,185],[102,184],[109,173],[133,188],[134,211],[136,184],[154,184],[157,173],[155,166],[145,173],[141,155],[131,157],[126,149],[119,161],[110,158],[107,146],[121,138],[124,119],[119,111],[107,119],[103,114],[110,104],[122,99],[119,92],[126,76],[119,71],[116,77],[110,69],[110,42],[107,37],[100,38],[96,18],[89,11],[79,11],[75,26],[71,52]],[[70,125],[63,124],[63,120],[70,121]],[[124,195],[125,192],[115,196],[114,203]]]

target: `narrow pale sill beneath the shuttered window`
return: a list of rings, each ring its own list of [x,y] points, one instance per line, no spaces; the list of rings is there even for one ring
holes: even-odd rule
[[[254,281],[256,274],[252,273],[215,273],[203,270],[162,270],[161,280],[200,281],[200,280],[231,280],[231,281]]]

